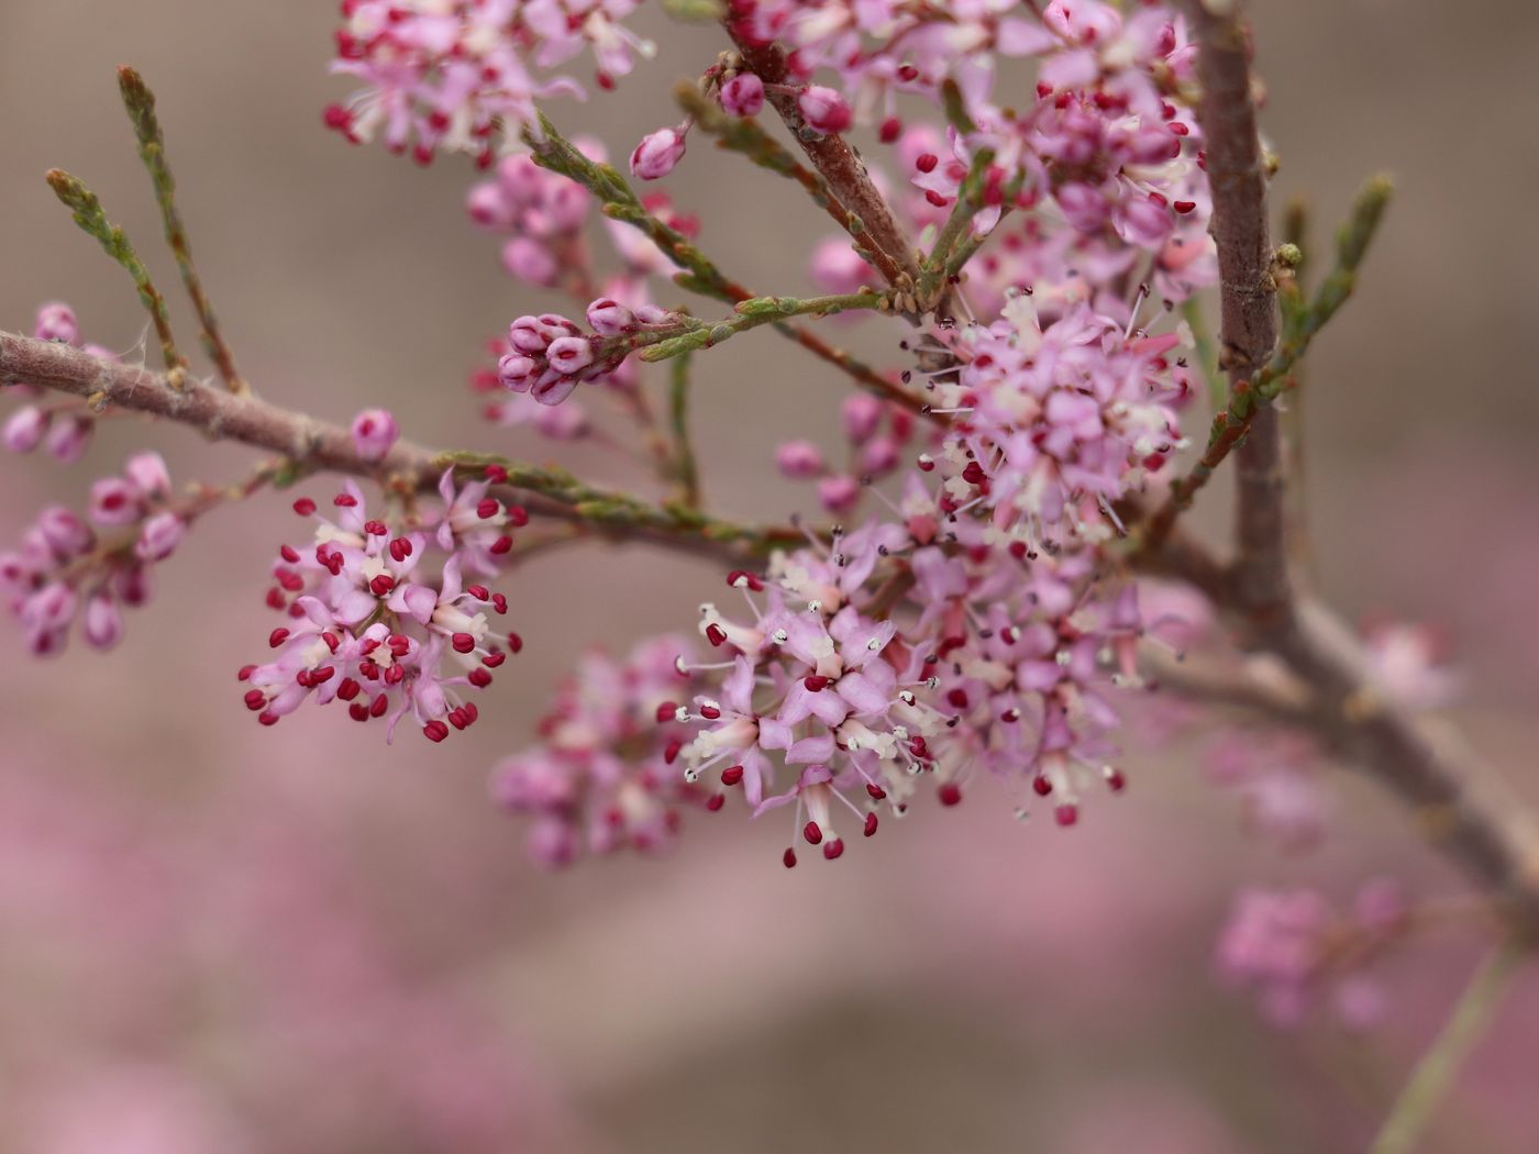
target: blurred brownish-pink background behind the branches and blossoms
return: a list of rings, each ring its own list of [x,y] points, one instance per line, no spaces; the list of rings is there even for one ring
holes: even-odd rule
[[[1360,292],[1308,368],[1319,585],[1353,617],[1444,631],[1470,740],[1524,783],[1539,734],[1539,12],[1262,0],[1256,15],[1277,188],[1310,197],[1317,237],[1360,178],[1399,178]],[[159,94],[199,263],[265,397],[332,420],[383,405],[429,443],[554,455],[476,420],[465,386],[485,339],[540,297],[468,222],[466,163],[423,171],[323,131],[320,109],[349,91],[326,75],[334,25],[319,2],[0,0],[0,326],[63,299],[88,340],[140,337],[126,280],[42,182],[55,165],[172,295],[117,103],[128,62]],[[662,60],[623,98],[560,108],[568,132],[620,155],[673,122],[666,82],[720,48],[709,29],[640,26],[666,37]],[[663,183],[725,269],[805,291],[823,222],[751,177],[702,142]],[[850,339],[896,354],[894,332]],[[808,503],[770,454],[833,429],[845,385],[796,355],[760,335],[700,368],[717,508]],[[74,469],[0,460],[0,537],[45,499],[78,503],[146,435],[177,480],[232,479],[249,459],[103,426]],[[603,452],[563,462],[631,479]],[[1224,502],[1202,503],[1211,532]],[[788,872],[783,829],[722,817],[662,859],[543,874],[488,805],[488,766],[526,742],[579,646],[688,628],[719,575],[634,552],[619,580],[597,546],[531,563],[509,589],[526,649],[496,709],[443,748],[386,748],[329,711],[259,731],[240,705],[234,672],[263,645],[289,525],[282,502],[209,519],[109,657],[75,645],[35,663],[0,626],[0,1151],[1350,1151],[1477,954],[1451,931],[1393,962],[1391,1012],[1367,1036],[1270,1029],[1213,979],[1237,886],[1462,882],[1345,772],[1317,852],[1257,845],[1203,782],[1202,734],[1130,759],[1131,795],[1071,832],[1017,826],[976,791],[837,868]],[[1539,989],[1519,989],[1430,1149],[1539,1146],[1536,1029]]]

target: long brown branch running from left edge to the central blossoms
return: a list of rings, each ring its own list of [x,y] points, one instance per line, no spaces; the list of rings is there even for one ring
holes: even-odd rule
[[[115,405],[165,417],[212,440],[279,452],[300,472],[345,472],[428,492],[437,488],[446,468],[485,475],[486,466],[496,465],[508,474],[508,483],[499,486],[500,495],[508,495],[531,514],[579,525],[606,540],[648,542],[717,563],[743,565],[779,545],[805,540],[790,526],[739,525],[688,509],[648,505],[628,494],[585,485],[563,469],[491,454],[436,452],[402,440],[383,460],[365,460],[351,432],[340,425],[317,422],[302,412],[195,380],[175,389],[165,374],[142,366],[97,360],[58,342],[0,332],[0,383],[22,382],[85,397],[95,408]]]

